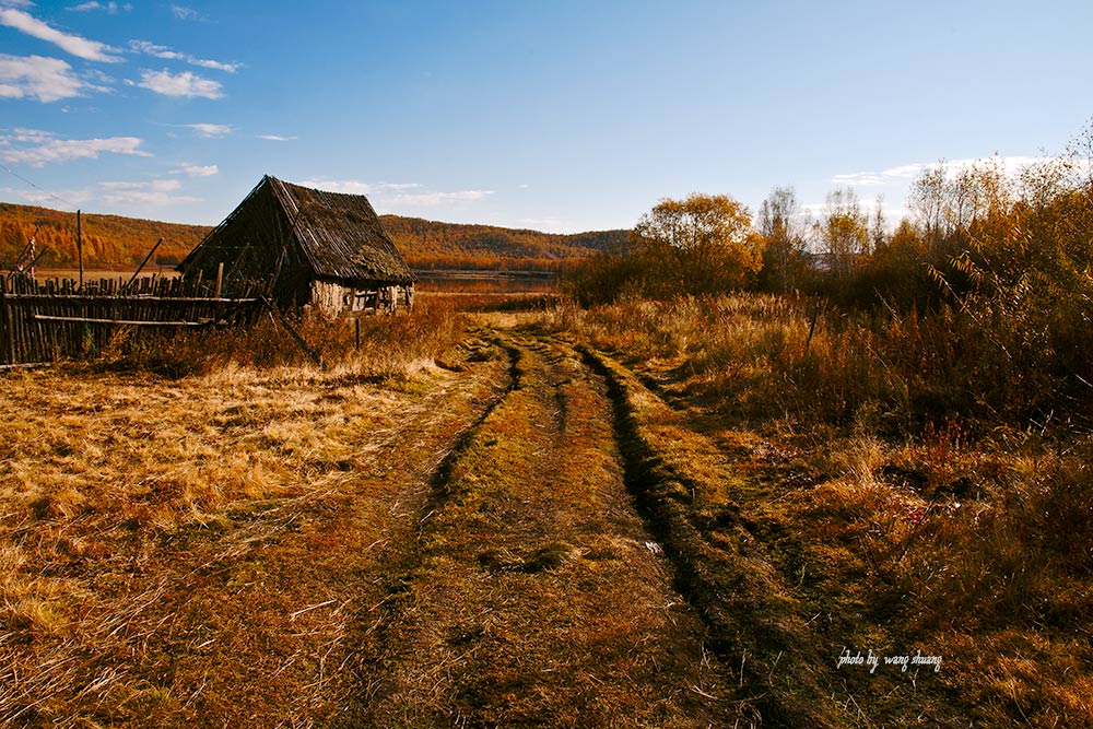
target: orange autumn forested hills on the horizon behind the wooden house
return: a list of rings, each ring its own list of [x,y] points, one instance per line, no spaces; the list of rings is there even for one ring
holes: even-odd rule
[[[438,223],[419,217],[383,215],[384,227],[413,268],[539,269],[583,258],[625,242],[626,231],[560,235],[496,227]],[[75,213],[0,202],[0,270],[12,264],[40,224],[37,251],[48,249],[39,266],[77,264]],[[156,262],[178,262],[212,230],[120,215],[82,216],[83,260],[87,268],[132,268],[163,237]]]

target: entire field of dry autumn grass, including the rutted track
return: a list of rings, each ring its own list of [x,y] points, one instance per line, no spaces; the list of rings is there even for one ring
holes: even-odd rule
[[[913,433],[810,325],[437,295],[301,322],[326,368],[269,322],[5,373],[0,717],[1093,724],[1088,440]]]

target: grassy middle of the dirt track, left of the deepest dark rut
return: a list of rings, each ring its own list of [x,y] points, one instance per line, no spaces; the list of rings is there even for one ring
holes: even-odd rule
[[[389,550],[337,725],[732,726],[729,671],[626,492],[603,380],[556,342],[494,345],[508,386]]]

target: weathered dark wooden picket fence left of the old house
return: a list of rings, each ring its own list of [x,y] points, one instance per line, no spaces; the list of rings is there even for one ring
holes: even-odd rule
[[[200,280],[0,277],[0,365],[95,356],[118,336],[248,324],[265,306],[257,292],[222,298]]]

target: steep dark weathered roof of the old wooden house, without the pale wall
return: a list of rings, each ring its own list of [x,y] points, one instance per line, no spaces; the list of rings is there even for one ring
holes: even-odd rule
[[[221,261],[236,281],[269,272],[275,277],[287,266],[307,268],[315,278],[413,282],[363,195],[314,190],[269,175],[178,268],[208,275]]]

